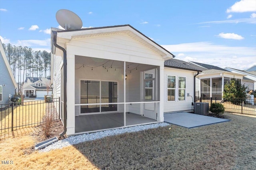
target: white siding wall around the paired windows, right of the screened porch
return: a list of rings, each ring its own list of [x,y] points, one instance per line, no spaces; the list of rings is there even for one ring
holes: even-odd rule
[[[175,102],[167,101],[167,75],[176,76]],[[186,77],[185,101],[178,101],[178,76]],[[190,96],[187,96],[187,94]],[[164,68],[164,113],[175,111],[193,111],[194,102],[194,71]]]

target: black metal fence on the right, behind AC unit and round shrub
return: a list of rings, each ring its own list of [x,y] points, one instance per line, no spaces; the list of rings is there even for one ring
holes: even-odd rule
[[[209,107],[212,103],[221,103],[225,107],[225,112],[239,113],[243,115],[256,116],[256,100],[254,99],[233,99],[227,101],[223,98],[206,98],[196,97],[196,102],[209,103]]]

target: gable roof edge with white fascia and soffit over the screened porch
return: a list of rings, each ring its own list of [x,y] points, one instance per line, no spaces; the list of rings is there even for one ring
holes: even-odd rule
[[[132,27],[131,25],[114,25],[114,26],[107,26],[107,27],[92,27],[92,28],[84,28],[84,29],[75,29],[75,30],[58,30],[56,28],[52,28],[52,32],[55,31],[58,33],[58,38],[62,39],[78,39],[78,38],[85,38],[85,37],[93,37],[93,36],[100,36],[100,35],[111,35],[111,34],[118,34],[118,33],[126,33],[133,39],[137,40],[138,42],[142,43],[152,51],[158,53],[161,56],[165,56],[165,60],[174,58],[175,56],[170,53],[168,50],[164,49],[164,47],[160,46],[152,39]],[[52,54],[55,54],[56,48],[53,45],[53,33],[52,33]]]

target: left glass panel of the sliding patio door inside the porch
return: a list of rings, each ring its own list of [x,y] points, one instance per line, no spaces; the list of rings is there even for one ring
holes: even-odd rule
[[[100,81],[80,81],[80,103],[100,103]],[[81,106],[81,113],[100,112],[100,105]]]

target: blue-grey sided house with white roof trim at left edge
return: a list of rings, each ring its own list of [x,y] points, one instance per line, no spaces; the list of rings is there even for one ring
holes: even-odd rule
[[[0,73],[0,104],[6,104],[10,102],[10,98],[15,94],[16,88],[18,88],[18,86],[12,74],[12,70],[6,57],[6,53],[4,52],[1,40]]]

